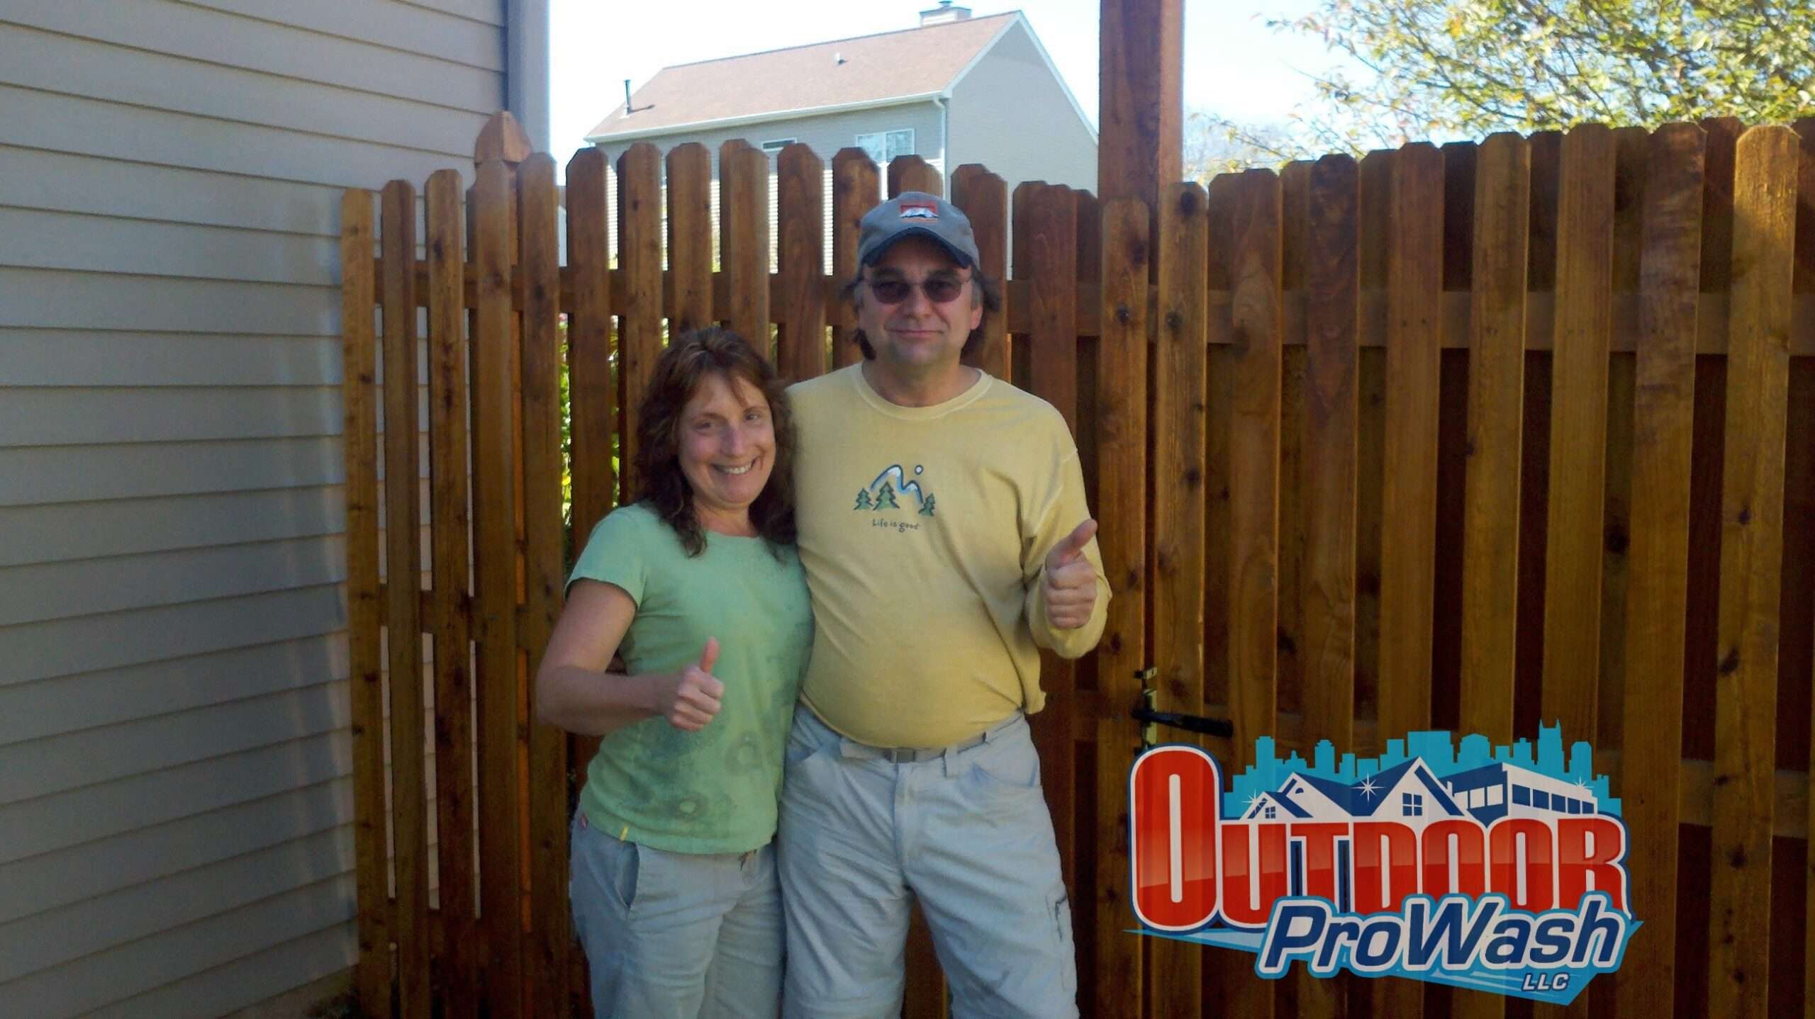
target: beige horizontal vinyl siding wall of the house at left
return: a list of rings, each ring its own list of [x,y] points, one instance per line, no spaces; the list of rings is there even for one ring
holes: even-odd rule
[[[339,189],[470,176],[503,22],[0,2],[0,1012],[352,965]]]

